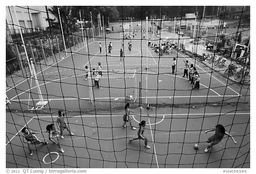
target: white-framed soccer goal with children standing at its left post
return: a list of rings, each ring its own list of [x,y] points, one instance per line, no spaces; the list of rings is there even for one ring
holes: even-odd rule
[[[90,101],[135,102],[137,98],[136,70],[102,70],[100,88],[95,84],[96,71],[89,76]]]

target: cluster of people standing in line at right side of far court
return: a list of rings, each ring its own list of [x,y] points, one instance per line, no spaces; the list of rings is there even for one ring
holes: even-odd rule
[[[200,77],[198,72],[196,71],[196,67],[193,64],[189,66],[188,61],[184,61],[184,74],[182,77],[185,77],[189,80],[189,83],[192,84],[192,89],[200,88]],[[189,73],[188,73],[189,70]],[[173,72],[173,70],[172,70]]]

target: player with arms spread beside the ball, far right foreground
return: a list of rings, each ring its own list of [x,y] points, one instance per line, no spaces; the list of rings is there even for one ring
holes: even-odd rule
[[[220,141],[223,139],[224,135],[230,136],[231,139],[233,140],[233,142],[236,144],[236,141],[233,138],[233,136],[231,134],[229,134],[228,132],[226,132],[226,129],[221,124],[217,124],[215,126],[215,129],[211,129],[211,130],[205,131],[205,133],[207,133],[209,131],[215,131],[215,134],[210,136],[208,138],[208,140],[206,141],[207,143],[209,143],[209,145],[205,148],[204,152],[208,152],[210,147],[220,143]]]

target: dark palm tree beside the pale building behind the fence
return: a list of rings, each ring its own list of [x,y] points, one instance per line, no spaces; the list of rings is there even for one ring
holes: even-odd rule
[[[60,10],[60,17],[58,8]],[[72,12],[72,6],[52,6],[52,8],[48,8],[48,11],[52,13],[52,15],[55,16],[54,19],[49,19],[52,29],[60,30],[60,19],[62,24],[62,30],[64,34],[64,40],[65,43],[67,43],[67,46],[69,47],[68,42],[68,35],[70,32],[75,32],[78,30],[78,27],[76,26],[76,18],[73,18],[71,16]]]

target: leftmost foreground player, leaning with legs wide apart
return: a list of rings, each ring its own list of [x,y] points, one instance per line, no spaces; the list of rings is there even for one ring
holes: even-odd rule
[[[21,132],[24,133],[23,142],[28,143],[28,150],[30,151],[30,155],[33,155],[32,144],[48,144],[47,141],[40,141],[35,135],[37,133],[42,133],[42,131],[30,131],[28,128],[23,128]]]

